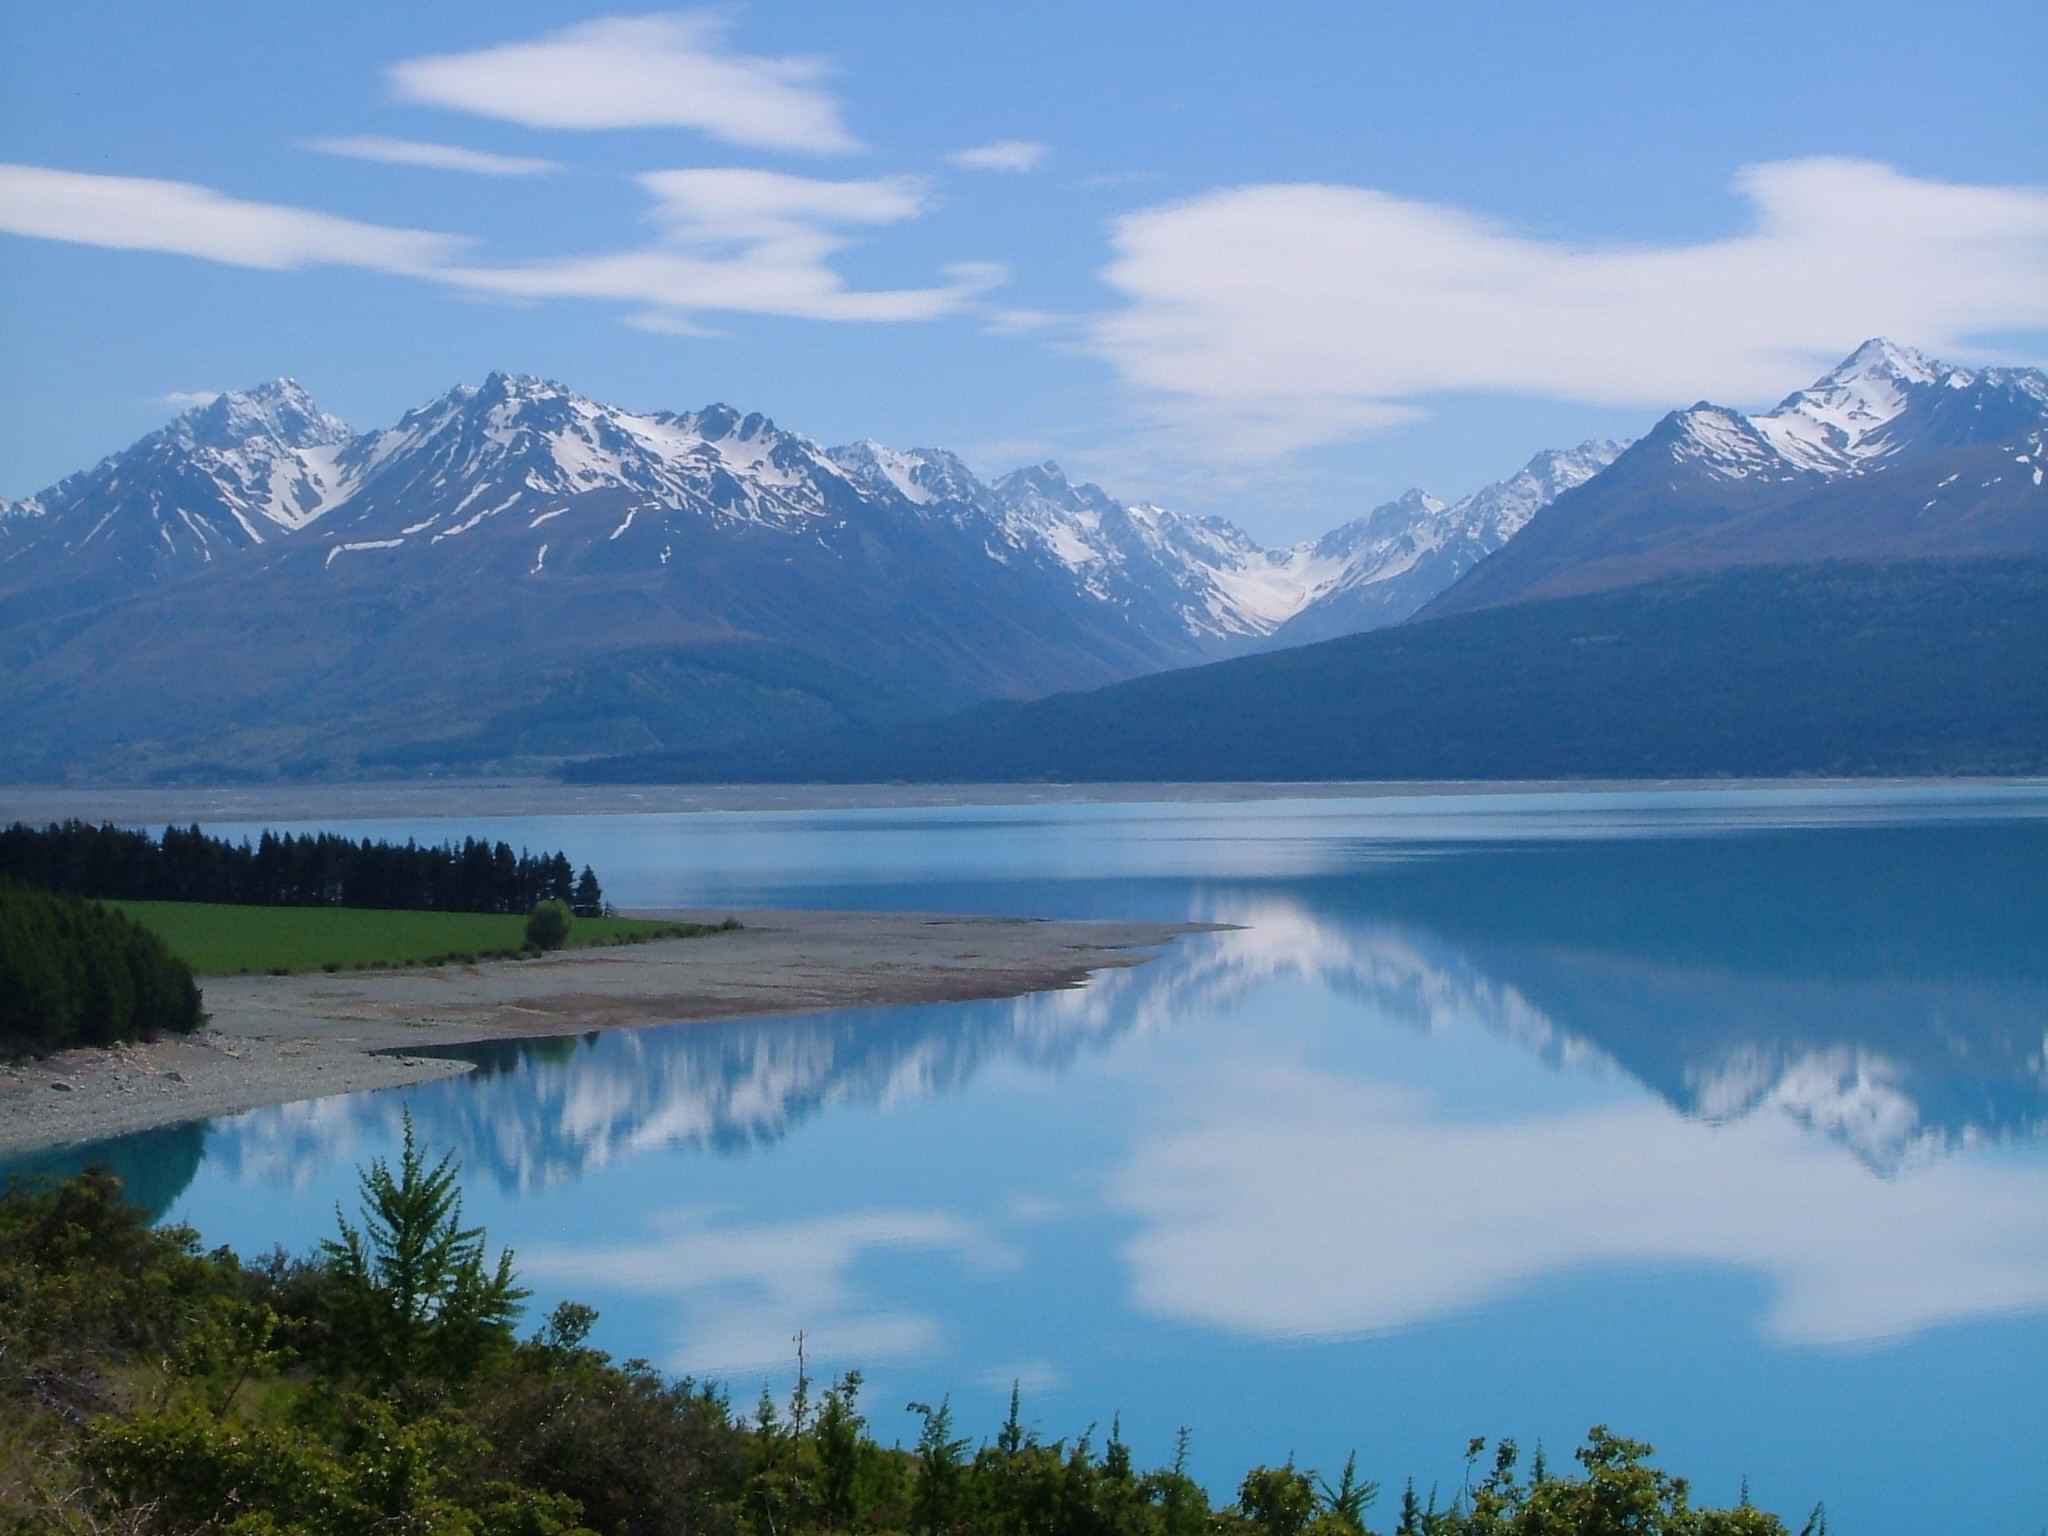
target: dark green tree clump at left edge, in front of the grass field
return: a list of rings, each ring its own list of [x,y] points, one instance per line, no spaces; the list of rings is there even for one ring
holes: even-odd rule
[[[0,879],[0,1055],[190,1034],[201,1018],[193,967],[156,934]]]

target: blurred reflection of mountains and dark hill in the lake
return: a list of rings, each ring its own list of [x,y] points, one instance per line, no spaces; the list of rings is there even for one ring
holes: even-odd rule
[[[1548,1067],[1626,1073],[1692,1118],[1786,1116],[1896,1176],[2048,1122],[2048,946],[2030,926],[2042,909],[2011,899],[2040,879],[2034,850],[2007,856],[1980,829],[1960,842],[1976,868],[1950,862],[1919,893],[1884,881],[1896,856],[1839,846],[1741,887],[1729,840],[1503,850],[1487,881],[1454,858],[1217,895],[1190,915],[1235,932],[1085,989],[457,1047],[444,1055],[477,1071],[408,1102],[473,1174],[535,1188],[657,1147],[745,1153],[825,1106],[954,1092],[991,1059],[1059,1073],[1124,1034],[1253,1016],[1262,991],[1307,983],[1360,1026],[1483,1028]],[[213,1155],[317,1167],[395,1112],[381,1098],[258,1110],[219,1126]]]

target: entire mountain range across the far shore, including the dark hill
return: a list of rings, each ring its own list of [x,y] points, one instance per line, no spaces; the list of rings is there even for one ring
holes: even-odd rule
[[[1772,412],[1702,401],[1268,549],[1053,463],[983,479],[727,406],[494,373],[358,434],[281,379],[0,506],[0,776],[1493,776],[1516,733],[1520,772],[2009,772],[2048,762],[2044,436],[2040,371],[1872,340]],[[1618,729],[1710,655],[1733,715]],[[1888,745],[1837,696],[1882,705],[1886,668],[1927,705]],[[2021,694],[1958,727],[1987,680]],[[1106,719],[989,707],[1110,684]],[[1788,698],[1804,725],[1755,739]]]

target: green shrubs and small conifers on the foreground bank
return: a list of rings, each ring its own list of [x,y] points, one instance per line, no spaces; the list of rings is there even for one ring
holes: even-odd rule
[[[801,1335],[786,1397],[721,1389],[588,1346],[559,1305],[520,1339],[510,1253],[463,1225],[453,1159],[406,1120],[397,1165],[362,1174],[360,1225],[258,1264],[154,1231],[88,1169],[0,1198],[0,1530],[152,1536],[1374,1536],[1378,1485],[1253,1466],[1221,1497],[1188,1436],[1135,1464],[1110,1419],[1044,1440],[1012,1391],[993,1440],[944,1399],[922,1432],[868,1430],[862,1378],[813,1382]],[[147,1368],[137,1368],[147,1362]],[[1393,1536],[1790,1536],[1751,1503],[1696,1503],[1651,1448],[1593,1427],[1575,1466],[1475,1440],[1456,1487],[1389,1501]],[[12,1475],[12,1481],[10,1481]],[[8,1524],[8,1522],[16,1524]],[[55,1524],[61,1520],[63,1524]],[[37,1524],[51,1522],[51,1524]],[[1825,1536],[1821,1509],[1802,1536]]]

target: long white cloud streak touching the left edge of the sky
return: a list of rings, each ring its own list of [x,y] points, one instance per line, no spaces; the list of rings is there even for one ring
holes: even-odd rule
[[[0,164],[0,231],[229,266],[365,266],[406,274],[432,272],[463,244],[428,229],[246,203],[193,182],[10,164]]]

